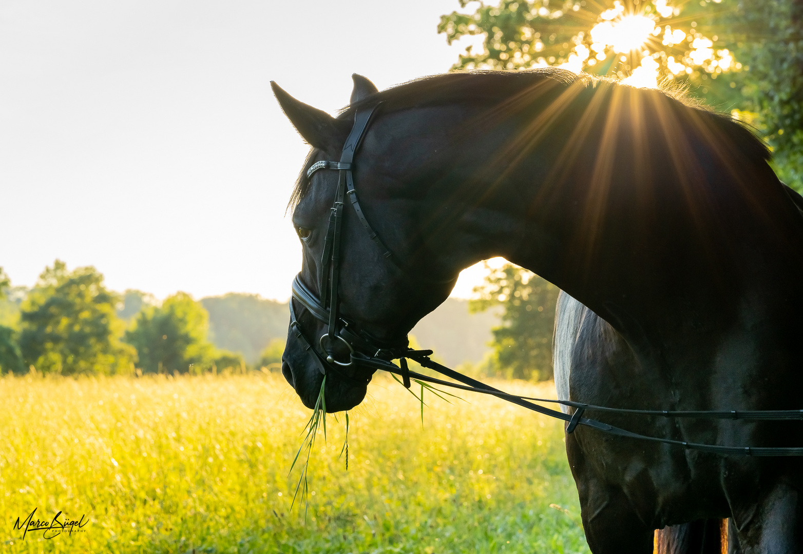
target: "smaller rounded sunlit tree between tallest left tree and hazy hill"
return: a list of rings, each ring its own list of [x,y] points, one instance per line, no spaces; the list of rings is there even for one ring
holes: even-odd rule
[[[214,346],[206,339],[209,314],[187,293],[167,297],[161,306],[146,306],[125,341],[137,349],[144,373],[187,373],[214,363]]]

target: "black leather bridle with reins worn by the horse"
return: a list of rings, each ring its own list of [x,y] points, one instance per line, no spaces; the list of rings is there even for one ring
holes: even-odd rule
[[[343,146],[343,152],[340,155],[340,161],[319,161],[312,164],[307,171],[307,178],[311,178],[312,174],[321,169],[334,169],[340,172],[340,178],[337,181],[337,188],[335,192],[335,202],[329,212],[329,222],[326,237],[324,239],[324,252],[321,256],[320,265],[318,269],[318,285],[321,291],[320,299],[312,293],[304,282],[300,279],[300,273],[296,275],[292,283],[292,298],[290,301],[290,326],[292,334],[304,346],[304,350],[315,360],[318,370],[321,374],[326,375],[329,371],[336,373],[340,378],[347,381],[354,382],[360,385],[366,385],[370,381],[368,378],[355,378],[347,374],[342,368],[345,367],[361,367],[371,370],[373,374],[376,370],[385,370],[391,374],[396,374],[402,377],[402,383],[408,389],[410,388],[410,379],[417,379],[419,382],[428,382],[437,384],[439,386],[449,386],[460,390],[471,390],[483,394],[491,394],[498,398],[503,398],[509,402],[513,402],[520,406],[524,406],[529,410],[536,411],[540,414],[548,415],[549,417],[561,419],[568,422],[566,432],[571,434],[578,425],[585,425],[593,427],[599,431],[608,433],[609,435],[618,435],[622,437],[629,437],[630,439],[646,440],[655,443],[673,444],[683,448],[705,451],[719,455],[748,455],[748,456],[803,456],[803,447],[729,447],[719,446],[715,444],[701,444],[701,443],[687,443],[686,441],[679,441],[675,439],[663,439],[660,437],[651,437],[647,435],[639,435],[631,431],[626,431],[619,427],[613,427],[608,423],[597,421],[596,419],[589,419],[584,417],[586,410],[595,410],[606,413],[616,414],[631,414],[631,415],[646,415],[662,418],[694,418],[694,419],[740,419],[745,421],[789,421],[789,420],[803,420],[803,410],[726,410],[726,411],[712,411],[712,410],[627,410],[621,408],[609,408],[606,406],[594,406],[592,404],[585,404],[583,402],[572,402],[568,400],[552,400],[546,398],[532,398],[516,394],[507,394],[502,390],[495,389],[488,386],[483,382],[476,379],[467,377],[452,370],[446,366],[442,366],[438,362],[430,359],[433,354],[432,350],[413,350],[408,344],[407,338],[403,338],[397,342],[386,342],[374,338],[365,330],[361,330],[359,326],[353,321],[349,321],[345,317],[338,317],[340,308],[340,297],[338,293],[338,281],[340,275],[340,233],[342,229],[343,213],[344,213],[344,200],[345,196],[349,196],[354,212],[357,213],[357,219],[360,220],[365,230],[368,232],[369,237],[376,243],[382,252],[382,257],[390,261],[402,273],[404,268],[398,261],[397,257],[393,255],[391,250],[385,246],[381,241],[377,232],[373,230],[368,220],[365,218],[360,202],[357,198],[357,191],[354,188],[354,156],[357,149],[360,147],[361,140],[365,135],[365,131],[369,127],[372,116],[377,112],[377,104],[374,107],[366,108],[365,110],[357,110],[354,115],[354,124],[349,132],[349,136]],[[316,348],[314,341],[310,341],[304,329],[302,328],[298,317],[296,317],[296,309],[293,307],[293,302],[297,301],[303,305],[313,317],[319,321],[323,321],[328,325],[327,332],[321,336],[318,345],[320,350]],[[329,354],[326,348],[326,343],[329,345],[334,342],[340,342],[349,350],[349,361],[340,362],[335,359],[333,354]],[[410,371],[407,366],[407,358],[418,362],[422,367],[435,370],[446,377],[452,378],[455,381],[463,383],[459,385],[454,382],[444,381],[442,379],[430,377],[429,375],[419,374]],[[392,361],[399,360],[397,366]],[[565,414],[562,411],[552,410],[544,406],[534,404],[534,402],[552,402],[563,406],[570,406],[574,408],[573,414]]]

